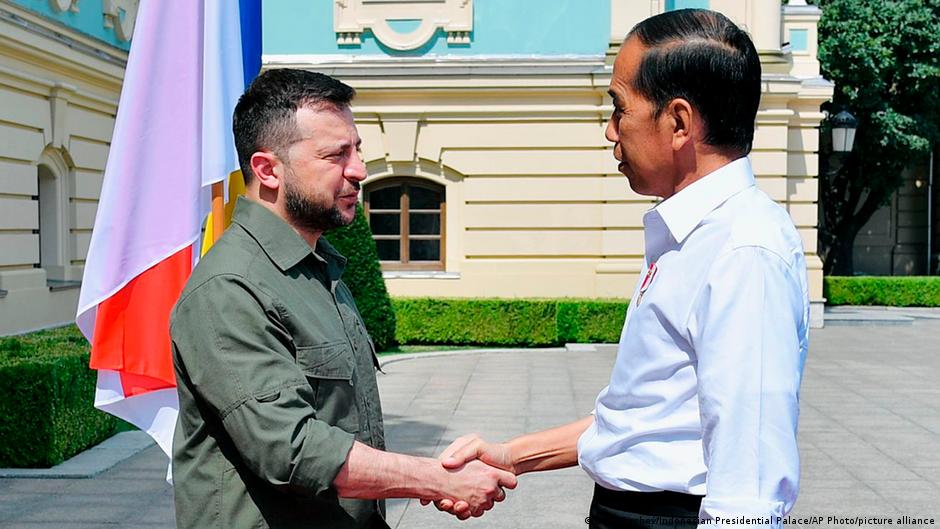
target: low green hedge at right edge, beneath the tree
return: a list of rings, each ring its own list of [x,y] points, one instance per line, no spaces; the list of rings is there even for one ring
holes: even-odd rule
[[[940,277],[826,277],[829,305],[940,307]]]

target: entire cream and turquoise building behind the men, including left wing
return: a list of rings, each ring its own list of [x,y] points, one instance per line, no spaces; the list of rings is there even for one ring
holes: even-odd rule
[[[704,3],[761,52],[751,160],[803,237],[821,323],[817,127],[832,86],[816,62],[819,11]],[[74,318],[136,12],[128,0],[102,37],[61,20],[91,3],[27,4],[0,0],[0,335]],[[636,22],[682,4],[266,3],[263,62],[358,90],[363,202],[392,295],[624,298],[656,201],[630,190],[604,138],[610,63]]]

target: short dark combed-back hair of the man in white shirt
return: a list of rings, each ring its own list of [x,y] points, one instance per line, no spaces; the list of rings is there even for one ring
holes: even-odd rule
[[[760,105],[760,57],[748,34],[727,17],[704,9],[680,9],[650,17],[630,30],[647,50],[633,88],[656,115],[676,98],[698,110],[704,142],[751,151]]]

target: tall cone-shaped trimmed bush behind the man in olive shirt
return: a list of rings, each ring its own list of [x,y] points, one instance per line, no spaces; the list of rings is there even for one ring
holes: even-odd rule
[[[328,232],[326,238],[346,256],[343,281],[356,299],[356,307],[375,348],[379,351],[388,349],[395,343],[395,313],[362,206],[356,206],[356,219],[352,224]]]

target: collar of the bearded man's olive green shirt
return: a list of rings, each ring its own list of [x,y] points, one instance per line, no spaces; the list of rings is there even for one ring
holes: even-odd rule
[[[324,237],[317,240],[316,251],[311,250],[307,241],[289,224],[251,199],[238,197],[232,222],[244,228],[282,272],[296,266],[309,255],[326,265],[331,278],[339,278],[346,266],[346,258]]]

